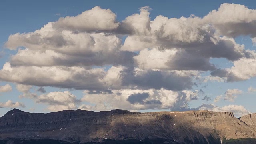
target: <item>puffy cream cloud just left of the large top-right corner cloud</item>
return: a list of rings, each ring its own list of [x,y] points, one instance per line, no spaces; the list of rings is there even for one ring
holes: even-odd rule
[[[201,18],[199,17],[180,17],[170,18],[157,16],[152,21],[152,31],[155,32],[158,38],[162,40],[178,43],[203,42],[204,34],[200,32]]]

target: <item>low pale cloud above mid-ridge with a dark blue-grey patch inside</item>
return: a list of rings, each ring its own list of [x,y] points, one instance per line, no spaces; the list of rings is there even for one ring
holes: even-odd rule
[[[112,90],[111,92],[91,92],[84,91],[82,104],[80,108],[84,110],[145,110],[145,109],[170,109],[187,110],[188,102],[196,100],[198,91],[180,91],[174,92],[165,89],[148,90]]]

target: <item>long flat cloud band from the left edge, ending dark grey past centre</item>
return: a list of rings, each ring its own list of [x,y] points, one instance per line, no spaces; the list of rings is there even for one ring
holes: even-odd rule
[[[168,90],[190,89],[194,85],[192,78],[198,73],[192,71],[140,71],[135,74],[133,68],[122,66],[109,69],[103,68],[86,69],[79,66],[15,66],[10,63],[4,64],[0,70],[0,79],[10,82],[22,83],[34,86],[54,86],[60,88],[104,90],[108,88],[166,88]],[[22,70],[22,73],[20,71]],[[120,70],[122,70],[120,72]],[[120,77],[109,78],[113,74]],[[50,76],[50,77],[49,77]],[[110,80],[111,81],[108,81]],[[116,82],[112,84],[110,82]]]

